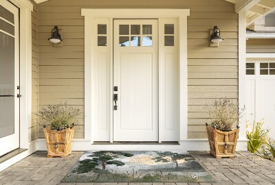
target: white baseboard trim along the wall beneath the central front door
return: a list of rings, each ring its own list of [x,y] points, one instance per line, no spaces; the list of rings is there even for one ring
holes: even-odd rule
[[[47,146],[44,138],[39,138],[37,143],[39,151],[46,151]],[[91,145],[89,139],[74,139],[72,143],[72,151],[86,151],[86,150],[114,150],[114,151],[208,151],[208,139],[181,139],[180,145]],[[246,138],[239,139],[236,150],[248,150],[248,140]]]

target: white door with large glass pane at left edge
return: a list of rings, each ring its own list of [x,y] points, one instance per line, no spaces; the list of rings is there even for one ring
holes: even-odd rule
[[[0,1],[0,156],[19,148],[19,9]]]

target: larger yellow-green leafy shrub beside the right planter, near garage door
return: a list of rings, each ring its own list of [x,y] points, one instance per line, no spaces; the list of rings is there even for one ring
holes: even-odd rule
[[[246,138],[248,138],[248,151],[252,153],[260,153],[259,149],[267,143],[267,133],[270,131],[263,128],[263,121],[253,123],[252,131],[246,131]]]

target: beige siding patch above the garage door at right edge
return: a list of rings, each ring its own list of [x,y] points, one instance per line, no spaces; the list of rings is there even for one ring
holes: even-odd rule
[[[275,53],[275,38],[250,38],[246,40],[247,53]]]

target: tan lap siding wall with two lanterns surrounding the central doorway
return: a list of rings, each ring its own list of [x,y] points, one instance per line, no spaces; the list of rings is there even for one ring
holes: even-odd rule
[[[204,109],[214,98],[238,98],[238,15],[223,0],[50,0],[39,4],[39,107],[67,101],[84,111],[84,17],[81,8],[186,8],[188,16],[188,138],[206,138]],[[63,47],[47,40],[54,25]],[[209,47],[209,29],[225,38]],[[43,137],[43,132],[39,132]],[[75,138],[84,137],[84,116]]]

